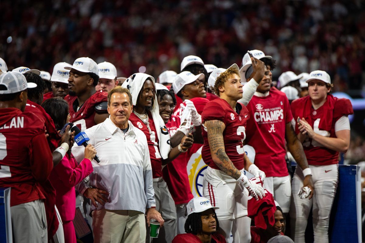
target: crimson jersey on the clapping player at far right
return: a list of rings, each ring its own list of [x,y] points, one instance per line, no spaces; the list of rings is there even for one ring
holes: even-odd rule
[[[333,95],[327,95],[327,101],[317,110],[311,105],[310,97],[303,97],[291,104],[294,117],[304,117],[315,133],[324,137],[336,137],[335,123],[343,116],[353,114],[349,99],[338,99]],[[299,133],[298,127],[295,128]],[[322,144],[307,138],[303,142],[304,153],[310,165],[330,165],[338,163],[338,152],[325,148]]]

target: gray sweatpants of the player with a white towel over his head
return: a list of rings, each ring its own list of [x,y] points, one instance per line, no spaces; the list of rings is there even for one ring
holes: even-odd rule
[[[146,242],[170,243],[177,235],[175,202],[162,177],[153,179],[153,189],[155,190],[156,210],[161,213],[162,219],[165,220],[165,224],[160,229],[158,238],[150,238],[150,228],[147,227]]]

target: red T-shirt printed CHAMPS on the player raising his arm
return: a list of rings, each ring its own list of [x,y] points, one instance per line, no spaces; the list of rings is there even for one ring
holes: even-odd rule
[[[270,90],[266,97],[254,95],[247,105],[246,144],[255,149],[255,165],[266,176],[287,176],[285,127],[293,119],[285,93]]]

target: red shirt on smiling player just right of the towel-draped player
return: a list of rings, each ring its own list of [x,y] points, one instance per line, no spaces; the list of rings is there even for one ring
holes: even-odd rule
[[[176,129],[180,126],[180,118],[172,115],[166,128],[172,137],[176,133]],[[164,169],[162,169],[162,175],[169,188],[172,198],[175,204],[188,203],[194,196],[191,193],[188,172],[187,172],[188,159],[186,153],[181,153],[176,159],[168,163]]]

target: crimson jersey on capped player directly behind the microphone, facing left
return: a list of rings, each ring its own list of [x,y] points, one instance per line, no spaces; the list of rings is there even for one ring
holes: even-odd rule
[[[97,91],[85,101],[78,111],[75,111],[73,106],[74,102],[77,101],[77,96],[66,95],[65,101],[69,104],[70,122],[73,122],[81,131],[95,126],[95,106],[101,102],[107,102],[107,96],[108,93]]]

